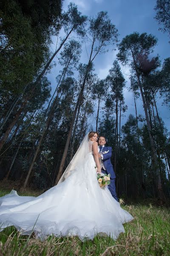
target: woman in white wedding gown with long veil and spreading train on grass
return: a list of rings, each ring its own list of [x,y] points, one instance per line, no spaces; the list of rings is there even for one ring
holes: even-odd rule
[[[38,197],[19,196],[12,190],[0,198],[0,230],[14,226],[22,234],[45,239],[54,234],[93,239],[96,234],[117,239],[123,223],[133,217],[96,178],[101,172],[98,134],[89,132],[63,173],[57,186]]]

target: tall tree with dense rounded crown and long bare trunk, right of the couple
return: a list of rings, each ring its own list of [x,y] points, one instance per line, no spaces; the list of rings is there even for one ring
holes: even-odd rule
[[[129,64],[132,70],[135,71],[136,77],[138,79],[138,84],[142,96],[143,106],[145,117],[147,121],[147,129],[150,138],[150,146],[152,151],[152,160],[153,166],[155,169],[156,183],[157,183],[157,192],[160,198],[163,198],[162,192],[162,184],[161,184],[161,176],[159,172],[158,160],[156,155],[156,145],[153,139],[153,132],[151,123],[149,120],[147,102],[144,98],[144,92],[142,87],[142,81],[140,77],[140,57],[143,54],[149,55],[150,52],[153,52],[153,48],[155,47],[157,39],[153,35],[147,35],[146,33],[135,32],[133,34],[127,35],[122,39],[122,42],[119,44],[119,53],[117,54],[118,59],[122,62],[123,65]]]

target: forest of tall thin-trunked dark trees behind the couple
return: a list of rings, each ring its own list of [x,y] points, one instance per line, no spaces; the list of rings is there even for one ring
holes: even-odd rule
[[[157,101],[170,108],[170,56],[161,61],[158,39],[146,32],[120,41],[105,11],[87,17],[75,3],[67,10],[62,5],[62,0],[0,0],[0,179],[46,191],[57,184],[85,134],[98,131],[113,148],[118,197],[165,202],[170,130]],[[168,5],[156,1],[155,19],[170,35]],[[81,63],[85,44],[88,61]],[[118,53],[100,79],[94,62],[110,47]],[[55,84],[47,78],[52,67]],[[123,125],[128,106],[121,67],[130,69],[136,113]]]

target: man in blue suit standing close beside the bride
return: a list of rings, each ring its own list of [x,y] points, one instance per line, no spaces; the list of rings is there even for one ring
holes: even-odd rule
[[[108,188],[116,201],[119,202],[119,199],[116,195],[116,186],[115,180],[116,175],[113,171],[113,165],[111,164],[111,156],[112,156],[112,148],[106,147],[106,139],[104,136],[99,137],[99,158],[101,158],[102,162],[102,173],[111,174],[111,183],[108,185]]]

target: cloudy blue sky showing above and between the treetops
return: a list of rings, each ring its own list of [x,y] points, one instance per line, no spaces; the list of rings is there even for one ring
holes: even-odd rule
[[[154,6],[156,0],[65,0],[63,3],[63,9],[66,10],[70,2],[77,4],[78,9],[83,15],[95,16],[97,12],[107,11],[112,23],[116,26],[119,32],[119,41],[126,35],[133,32],[147,32],[153,34],[158,38],[158,44],[155,48],[155,55],[159,54],[161,61],[164,58],[170,57],[170,44],[167,34],[159,31],[159,25],[154,19],[156,12]],[[56,38],[54,38],[54,44]],[[86,45],[87,46],[87,45]],[[53,45],[51,46],[54,47]],[[88,46],[87,46],[88,49]],[[116,59],[116,53],[118,51],[112,51],[105,54],[98,55],[94,61],[95,73],[100,79],[105,79],[108,75],[108,70],[112,67],[113,61]],[[57,58],[55,58],[57,62]],[[82,45],[82,55],[80,61],[87,63],[88,57],[85,51],[85,45]],[[59,66],[53,67],[51,73],[48,74],[48,79],[51,81],[51,86],[54,88],[55,77],[59,74]],[[129,85],[129,69],[128,67],[122,67],[122,73],[127,81],[126,87]],[[125,117],[122,120],[124,124],[130,113],[135,115],[134,100],[132,93],[127,88],[124,90],[125,104],[128,106],[128,110],[125,113]],[[162,99],[157,97],[157,105],[159,114],[164,120],[165,126],[170,130],[170,110],[166,106],[162,106]],[[141,99],[137,100],[138,114],[144,115]],[[94,113],[95,118],[96,113]],[[90,122],[90,121],[89,121]],[[94,122],[94,121],[93,121]],[[92,123],[92,122],[90,122]]]

